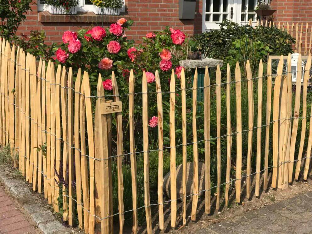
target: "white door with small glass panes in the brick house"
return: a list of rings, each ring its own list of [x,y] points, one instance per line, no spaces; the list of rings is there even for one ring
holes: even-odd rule
[[[203,0],[203,32],[220,29],[224,19],[245,25],[252,19],[256,24],[257,15],[253,11],[258,0]]]

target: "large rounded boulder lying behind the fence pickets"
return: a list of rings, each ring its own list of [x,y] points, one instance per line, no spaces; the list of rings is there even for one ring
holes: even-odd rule
[[[176,167],[176,196],[177,198],[183,197],[183,189],[182,189],[182,164]],[[190,195],[193,193],[193,163],[187,163],[186,165],[186,195]],[[199,187],[198,192],[203,191],[205,189],[205,164],[198,163],[198,181]],[[164,176],[163,180],[163,192],[164,195],[170,198],[170,171]],[[199,196],[203,195],[203,192],[199,193]]]

